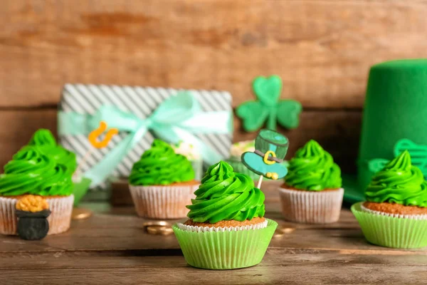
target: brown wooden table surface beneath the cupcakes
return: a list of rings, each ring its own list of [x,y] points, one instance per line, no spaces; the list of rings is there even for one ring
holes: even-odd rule
[[[285,222],[275,185],[264,190],[266,216],[295,230],[273,237],[257,266],[192,268],[174,235],[147,234],[132,207],[84,204],[95,214],[65,234],[33,242],[0,237],[0,284],[426,284],[425,249],[368,244],[349,209],[335,224]]]

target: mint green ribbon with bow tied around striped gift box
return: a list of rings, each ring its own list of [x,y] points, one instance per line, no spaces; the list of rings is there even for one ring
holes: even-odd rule
[[[94,115],[75,112],[58,113],[58,135],[88,135],[104,120],[108,128],[129,132],[113,150],[84,173],[92,180],[91,187],[105,181],[108,175],[127,155],[127,152],[151,131],[161,140],[178,143],[188,142],[201,152],[210,165],[221,160],[221,155],[206,145],[195,134],[226,134],[233,129],[230,111],[202,112],[199,102],[189,92],[181,92],[164,100],[148,118],[124,112],[112,105],[104,105]]]

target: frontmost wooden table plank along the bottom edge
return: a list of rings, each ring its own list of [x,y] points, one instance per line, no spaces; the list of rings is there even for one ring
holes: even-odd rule
[[[340,269],[305,265],[254,266],[230,271],[206,271],[189,266],[173,268],[110,267],[102,269],[26,269],[0,271],[0,281],[26,284],[425,284],[425,266],[349,265]],[[13,281],[11,281],[13,280]],[[36,283],[35,283],[36,282]]]

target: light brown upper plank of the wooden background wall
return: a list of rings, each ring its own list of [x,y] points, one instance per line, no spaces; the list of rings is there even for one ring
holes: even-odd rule
[[[278,74],[305,108],[361,108],[369,66],[427,47],[426,1],[166,2],[1,1],[0,106],[56,104],[66,82],[229,90],[236,106]]]

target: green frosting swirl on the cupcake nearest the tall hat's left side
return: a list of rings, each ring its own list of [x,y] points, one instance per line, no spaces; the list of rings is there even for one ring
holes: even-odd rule
[[[341,170],[332,155],[310,140],[289,161],[285,183],[300,190],[337,189],[342,185]]]

